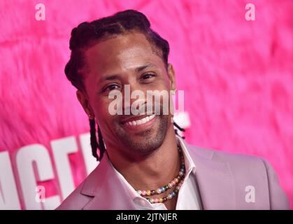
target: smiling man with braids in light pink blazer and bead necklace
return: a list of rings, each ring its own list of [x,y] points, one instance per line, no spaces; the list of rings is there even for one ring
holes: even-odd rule
[[[101,162],[58,209],[288,208],[262,158],[187,145],[174,130],[170,110],[110,113],[113,90],[126,101],[127,85],[146,94],[176,90],[169,43],[150,29],[145,15],[125,10],[84,22],[71,32],[70,49],[65,73],[90,118],[92,153]]]

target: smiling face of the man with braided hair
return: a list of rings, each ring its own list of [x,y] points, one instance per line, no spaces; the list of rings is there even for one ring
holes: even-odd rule
[[[143,103],[146,104],[147,90],[169,92],[174,87],[172,66],[169,65],[169,69],[166,69],[162,57],[154,49],[143,34],[131,33],[101,41],[85,52],[85,62],[89,69],[89,73],[85,75],[87,99],[106,146],[118,148],[125,153],[147,155],[159,148],[164,141],[171,126],[170,113],[156,116],[109,113],[109,105],[113,102],[108,97],[111,90],[120,90],[124,102],[124,87],[129,85],[130,93],[134,90],[144,92]],[[130,99],[130,105],[135,100]],[[124,106],[122,108],[124,112]]]

